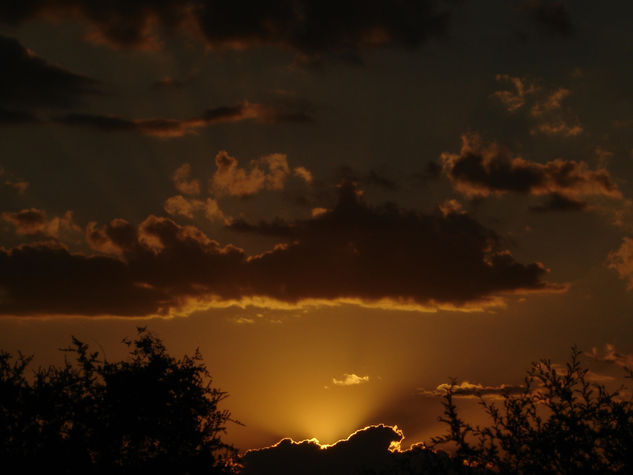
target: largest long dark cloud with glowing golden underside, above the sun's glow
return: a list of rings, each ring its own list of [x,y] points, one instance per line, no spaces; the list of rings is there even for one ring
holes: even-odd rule
[[[139,226],[92,223],[86,239],[102,255],[51,244],[1,249],[0,314],[172,315],[310,302],[472,309],[562,289],[466,214],[372,208],[349,185],[331,211],[293,223],[285,242],[255,256],[156,216]]]

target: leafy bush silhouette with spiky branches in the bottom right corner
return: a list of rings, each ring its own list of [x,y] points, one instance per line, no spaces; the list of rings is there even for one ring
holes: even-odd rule
[[[533,363],[523,391],[503,395],[501,408],[480,396],[487,427],[459,416],[453,381],[440,417],[449,433],[434,447],[453,445],[465,464],[500,473],[633,473],[633,402],[588,381],[580,355],[572,348],[564,369]]]

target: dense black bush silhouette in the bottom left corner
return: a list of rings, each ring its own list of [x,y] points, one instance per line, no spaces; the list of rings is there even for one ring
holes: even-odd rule
[[[176,359],[143,328],[126,360],[108,362],[73,338],[62,367],[0,353],[0,457],[16,473],[215,474],[230,471],[222,442],[226,393],[200,354]],[[71,360],[71,361],[68,361]]]

